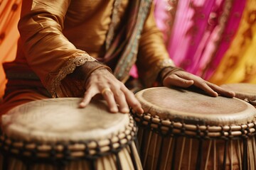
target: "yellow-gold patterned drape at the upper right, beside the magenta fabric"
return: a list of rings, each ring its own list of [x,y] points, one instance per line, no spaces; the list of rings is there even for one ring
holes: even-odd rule
[[[256,84],[256,1],[248,0],[238,33],[209,81]]]

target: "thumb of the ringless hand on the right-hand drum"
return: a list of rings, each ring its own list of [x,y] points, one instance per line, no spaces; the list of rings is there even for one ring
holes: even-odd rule
[[[178,77],[176,74],[171,74],[169,77],[166,77],[163,82],[164,86],[180,86],[183,88],[187,88],[194,84],[193,80],[183,79]]]

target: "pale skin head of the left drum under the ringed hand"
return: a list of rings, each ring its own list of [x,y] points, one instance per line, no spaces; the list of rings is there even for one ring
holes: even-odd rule
[[[17,106],[3,115],[3,131],[16,140],[65,142],[106,139],[129,124],[128,114],[110,113],[103,101],[78,108],[80,101],[51,98]]]

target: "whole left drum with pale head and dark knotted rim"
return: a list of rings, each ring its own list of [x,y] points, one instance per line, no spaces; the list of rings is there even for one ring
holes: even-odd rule
[[[4,115],[2,169],[142,169],[132,116],[80,100],[32,101]]]

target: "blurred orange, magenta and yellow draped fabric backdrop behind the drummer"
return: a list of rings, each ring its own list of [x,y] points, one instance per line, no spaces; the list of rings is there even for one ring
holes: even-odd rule
[[[2,67],[16,57],[21,0],[0,0]],[[215,84],[256,84],[255,0],[154,0],[156,24],[178,67]],[[136,69],[131,74],[136,76]]]

